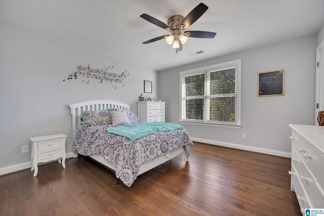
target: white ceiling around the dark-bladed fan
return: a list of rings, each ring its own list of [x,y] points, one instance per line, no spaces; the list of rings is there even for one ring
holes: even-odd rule
[[[209,9],[187,30],[215,38],[189,37],[178,54],[165,40],[142,44],[168,31],[141,14],[167,23],[200,2],[0,0],[0,20],[156,71],[313,34],[324,24],[323,0],[205,0]],[[188,55],[199,50],[205,53]]]

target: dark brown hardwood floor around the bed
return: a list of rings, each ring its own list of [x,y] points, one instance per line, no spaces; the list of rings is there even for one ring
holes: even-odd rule
[[[302,215],[290,159],[194,143],[128,188],[87,157],[0,177],[0,215]]]

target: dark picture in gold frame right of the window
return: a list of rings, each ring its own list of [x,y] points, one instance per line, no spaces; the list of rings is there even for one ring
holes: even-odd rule
[[[258,96],[282,96],[285,93],[285,70],[258,73]]]

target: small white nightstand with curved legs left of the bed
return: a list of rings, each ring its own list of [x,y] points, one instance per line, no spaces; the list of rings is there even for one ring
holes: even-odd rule
[[[43,137],[31,137],[31,171],[34,177],[37,176],[38,163],[48,162],[58,159],[59,163],[65,168],[65,139],[66,135],[56,134]]]

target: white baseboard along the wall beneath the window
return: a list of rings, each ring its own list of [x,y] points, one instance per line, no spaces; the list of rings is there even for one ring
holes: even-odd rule
[[[206,144],[211,144],[211,145],[216,145],[216,146],[223,146],[223,147],[228,147],[228,148],[259,152],[259,153],[276,155],[276,156],[281,156],[281,157],[291,158],[291,156],[292,156],[291,152],[276,151],[276,150],[272,150],[272,149],[265,149],[265,148],[259,148],[259,147],[253,147],[253,146],[245,146],[245,145],[234,144],[234,143],[225,143],[225,142],[220,142],[220,141],[215,141],[215,140],[207,140],[207,139],[200,139],[200,138],[193,138],[193,137],[191,137],[191,140],[194,142],[198,142],[198,143],[206,143]]]

